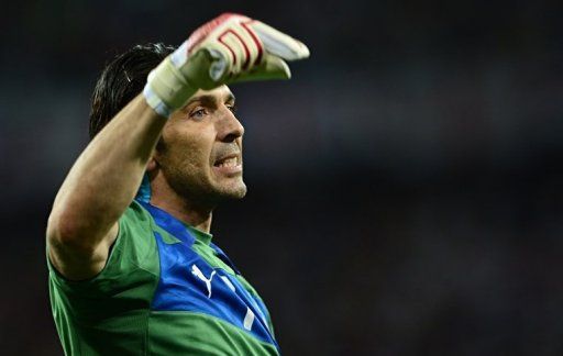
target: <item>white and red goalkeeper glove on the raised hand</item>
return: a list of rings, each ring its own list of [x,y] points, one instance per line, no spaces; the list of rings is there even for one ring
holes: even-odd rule
[[[224,13],[197,29],[151,71],[143,93],[158,114],[169,116],[198,89],[289,79],[285,60],[307,57],[301,42],[257,20]]]

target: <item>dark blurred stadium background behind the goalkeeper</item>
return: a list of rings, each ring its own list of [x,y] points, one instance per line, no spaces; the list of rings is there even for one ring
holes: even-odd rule
[[[0,351],[59,355],[44,229],[114,54],[223,11],[307,43],[233,87],[214,238],[286,355],[563,355],[563,2],[31,1],[0,14]]]

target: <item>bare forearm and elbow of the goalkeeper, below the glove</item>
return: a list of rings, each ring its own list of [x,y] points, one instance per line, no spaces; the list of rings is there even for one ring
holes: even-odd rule
[[[99,272],[133,200],[166,118],[133,99],[78,157],[58,190],[47,225],[53,265],[69,279]]]

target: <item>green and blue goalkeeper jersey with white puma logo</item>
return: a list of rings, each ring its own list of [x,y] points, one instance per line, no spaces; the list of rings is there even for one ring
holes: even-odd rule
[[[133,201],[103,270],[69,281],[48,263],[67,355],[278,355],[262,299],[211,235]]]

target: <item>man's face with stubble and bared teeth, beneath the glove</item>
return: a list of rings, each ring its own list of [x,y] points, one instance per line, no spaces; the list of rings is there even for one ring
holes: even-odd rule
[[[194,203],[242,198],[242,136],[227,86],[198,90],[166,123],[155,160],[168,186]]]

